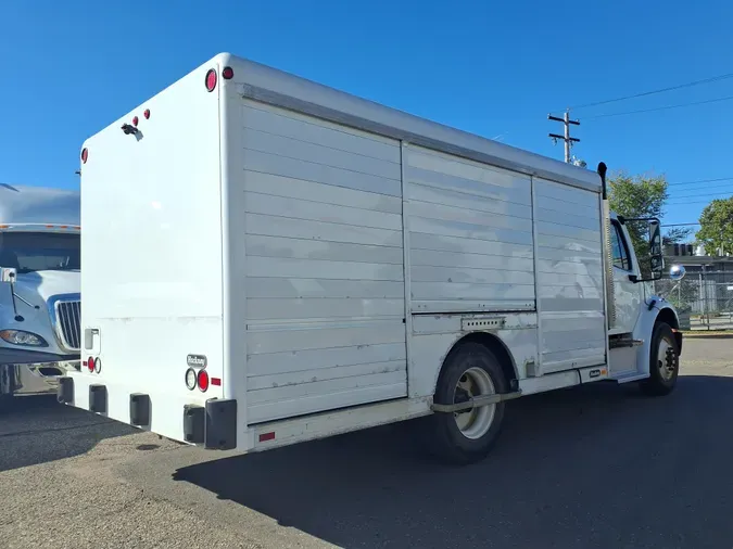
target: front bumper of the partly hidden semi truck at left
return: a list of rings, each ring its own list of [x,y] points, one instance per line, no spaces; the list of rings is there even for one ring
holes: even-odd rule
[[[0,395],[39,395],[55,393],[59,379],[78,371],[79,359],[36,363],[0,363]]]

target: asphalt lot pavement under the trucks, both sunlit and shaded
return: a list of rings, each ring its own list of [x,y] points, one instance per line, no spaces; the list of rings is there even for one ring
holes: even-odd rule
[[[677,391],[509,404],[453,468],[409,422],[250,456],[27,398],[0,419],[0,548],[731,548],[733,340],[687,340]]]

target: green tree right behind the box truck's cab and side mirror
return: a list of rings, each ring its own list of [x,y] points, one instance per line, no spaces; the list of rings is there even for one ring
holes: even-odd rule
[[[669,199],[665,176],[631,176],[620,173],[608,179],[608,201],[610,208],[623,217],[664,217],[665,204]],[[648,224],[627,224],[632,245],[642,267],[642,273],[648,274]],[[664,230],[664,224],[662,224]],[[690,229],[673,227],[666,231],[664,244],[683,241]]]

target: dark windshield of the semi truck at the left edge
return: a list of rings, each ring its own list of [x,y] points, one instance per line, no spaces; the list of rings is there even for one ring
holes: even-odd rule
[[[0,232],[0,267],[18,273],[80,269],[78,234]]]

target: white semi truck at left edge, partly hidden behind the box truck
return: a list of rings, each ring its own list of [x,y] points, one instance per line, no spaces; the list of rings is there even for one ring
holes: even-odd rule
[[[80,365],[79,192],[0,184],[0,401]]]

